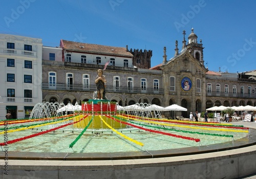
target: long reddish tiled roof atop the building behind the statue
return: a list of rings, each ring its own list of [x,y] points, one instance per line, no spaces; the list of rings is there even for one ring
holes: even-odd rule
[[[112,46],[102,46],[99,44],[91,43],[81,43],[68,40],[60,40],[60,46],[63,49],[75,51],[75,52],[84,52],[91,54],[102,54],[102,55],[111,55],[111,56],[123,56],[123,57],[133,57],[129,51],[126,51],[124,47],[112,47]]]

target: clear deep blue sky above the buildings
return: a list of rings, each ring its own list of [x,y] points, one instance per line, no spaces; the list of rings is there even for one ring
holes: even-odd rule
[[[194,28],[202,39],[205,65],[231,73],[256,70],[256,1],[10,0],[1,1],[0,33],[60,39],[129,50],[152,50],[151,66],[182,49]]]

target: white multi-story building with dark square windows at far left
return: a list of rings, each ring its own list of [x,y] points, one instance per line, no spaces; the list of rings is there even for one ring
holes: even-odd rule
[[[42,101],[42,40],[0,34],[0,118],[30,116]]]

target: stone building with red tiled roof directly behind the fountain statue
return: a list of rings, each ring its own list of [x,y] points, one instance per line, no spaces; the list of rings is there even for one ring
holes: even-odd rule
[[[120,105],[137,102],[162,104],[162,71],[137,68],[148,65],[152,51],[128,50],[98,44],[60,41],[62,60],[47,60],[50,53],[43,53],[43,100],[50,102],[80,103],[93,98],[96,91],[97,70],[103,69],[106,77],[106,98]],[[44,49],[44,48],[43,48]],[[54,50],[54,49],[52,49]],[[55,48],[57,51],[59,48]],[[45,50],[43,50],[45,51]],[[134,60],[134,55],[139,60]],[[142,65],[141,65],[142,66]],[[143,67],[143,66],[142,66]],[[157,94],[157,96],[156,96]]]

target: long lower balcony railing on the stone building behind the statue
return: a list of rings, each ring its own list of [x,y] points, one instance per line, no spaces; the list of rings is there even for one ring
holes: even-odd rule
[[[83,92],[94,92],[96,91],[96,85],[90,85],[89,87],[84,87],[82,85],[67,85],[67,84],[56,84],[49,85],[49,83],[42,83],[42,89],[50,90],[68,90],[68,91],[83,91]],[[145,90],[140,87],[115,87],[106,86],[106,91],[110,93],[147,93],[147,94],[164,94],[164,89],[146,88]]]

